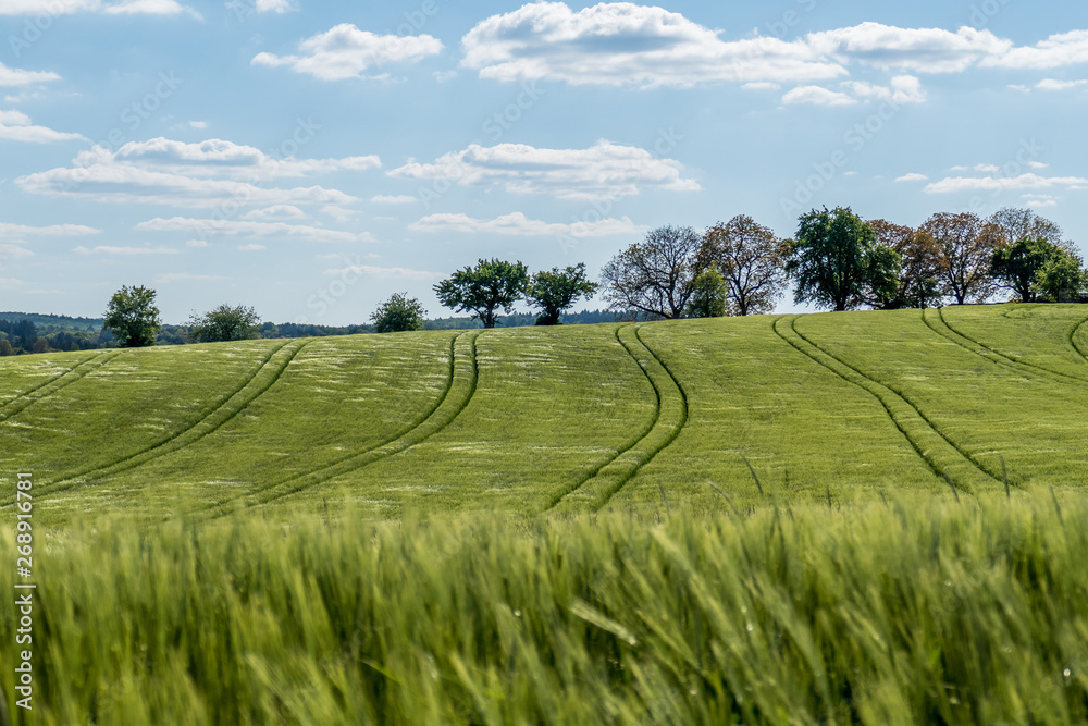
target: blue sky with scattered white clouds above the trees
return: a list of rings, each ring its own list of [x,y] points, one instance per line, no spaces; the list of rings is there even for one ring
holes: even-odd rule
[[[1086,110],[1079,3],[3,0],[0,309],[441,316],[478,258],[596,275],[821,205],[1031,206],[1085,249]]]

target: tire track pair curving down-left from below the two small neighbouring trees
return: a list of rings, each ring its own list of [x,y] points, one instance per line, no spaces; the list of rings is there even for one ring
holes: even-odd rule
[[[479,331],[471,331],[459,333],[450,341],[449,379],[446,389],[423,418],[412,422],[385,441],[361,452],[350,454],[314,471],[295,475],[268,490],[250,494],[244,497],[246,505],[271,504],[336,477],[357,471],[374,462],[408,451],[453,423],[468,408],[475,395],[480,380],[480,370],[477,364],[477,339],[479,336]],[[218,517],[227,514],[233,508],[231,503],[214,504],[203,509],[203,513]]]

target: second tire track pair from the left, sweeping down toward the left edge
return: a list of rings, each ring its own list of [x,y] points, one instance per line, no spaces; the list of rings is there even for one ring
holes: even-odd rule
[[[273,348],[251,377],[232,391],[223,403],[187,429],[111,464],[69,475],[52,484],[47,484],[42,487],[42,494],[55,494],[102,477],[127,471],[214,433],[271,389],[287,370],[287,366],[295,359],[295,356],[310,342],[309,340],[286,342]]]

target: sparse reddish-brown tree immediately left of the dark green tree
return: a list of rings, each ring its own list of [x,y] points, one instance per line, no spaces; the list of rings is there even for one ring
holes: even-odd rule
[[[739,214],[706,231],[700,263],[720,272],[730,315],[755,315],[774,310],[784,291],[787,251],[769,227]]]

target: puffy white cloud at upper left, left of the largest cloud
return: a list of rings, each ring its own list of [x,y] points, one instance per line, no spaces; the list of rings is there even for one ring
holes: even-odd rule
[[[286,65],[322,81],[368,77],[366,72],[386,63],[420,61],[442,52],[442,42],[432,36],[375,35],[342,23],[298,45],[301,56],[259,53],[252,65]],[[384,76],[378,76],[384,77]]]

